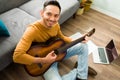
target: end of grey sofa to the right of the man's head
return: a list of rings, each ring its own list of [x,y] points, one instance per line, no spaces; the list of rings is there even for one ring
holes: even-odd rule
[[[61,17],[59,23],[62,24],[64,21],[69,19],[80,7],[78,0],[58,0],[61,5]]]

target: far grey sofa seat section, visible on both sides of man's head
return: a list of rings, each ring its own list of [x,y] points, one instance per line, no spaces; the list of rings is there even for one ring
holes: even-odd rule
[[[59,20],[60,24],[62,24],[77,11],[80,4],[78,0],[58,0],[58,1],[62,8],[61,17]],[[29,14],[40,19],[40,10],[43,8],[44,2],[45,0],[31,0],[25,3],[24,5],[20,6],[19,8],[25,10]]]

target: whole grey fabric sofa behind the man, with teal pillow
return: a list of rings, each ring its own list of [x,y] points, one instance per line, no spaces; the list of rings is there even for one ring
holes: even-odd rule
[[[12,63],[13,51],[27,25],[40,19],[45,0],[0,0],[0,71]],[[59,23],[64,23],[78,10],[78,0],[58,0],[61,5]],[[5,35],[3,35],[6,33]]]

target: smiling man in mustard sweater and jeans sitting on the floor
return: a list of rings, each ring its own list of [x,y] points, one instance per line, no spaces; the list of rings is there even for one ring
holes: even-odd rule
[[[27,54],[33,42],[46,42],[51,37],[58,37],[63,39],[66,43],[72,41],[71,38],[66,37],[60,30],[58,20],[60,17],[61,7],[56,0],[46,1],[44,8],[41,11],[41,20],[30,24],[24,32],[22,38],[16,46],[13,60],[20,64],[40,63],[47,64],[55,61],[57,55],[51,51],[45,57],[34,57]],[[87,38],[87,37],[86,37]],[[54,62],[51,67],[44,73],[45,80],[87,80],[88,76],[88,47],[85,42],[78,43],[67,50],[64,59],[68,59],[73,55],[78,55],[78,66],[64,76],[60,76],[57,68],[57,62]]]

